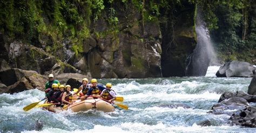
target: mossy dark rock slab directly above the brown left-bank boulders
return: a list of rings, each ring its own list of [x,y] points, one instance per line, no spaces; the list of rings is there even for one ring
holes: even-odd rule
[[[29,69],[41,74],[50,71],[57,61],[55,57],[41,48],[24,44],[21,41],[14,41],[10,44],[9,57],[13,67]]]

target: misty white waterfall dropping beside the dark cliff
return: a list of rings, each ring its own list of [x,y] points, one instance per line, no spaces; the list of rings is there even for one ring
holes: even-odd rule
[[[186,60],[186,76],[205,76],[208,66],[217,64],[210,34],[201,18],[200,10],[197,10],[196,33],[197,46]]]

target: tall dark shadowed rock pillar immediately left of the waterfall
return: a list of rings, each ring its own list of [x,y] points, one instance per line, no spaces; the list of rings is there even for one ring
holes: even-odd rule
[[[169,19],[162,21],[163,24],[160,25],[163,36],[161,70],[164,77],[185,76],[186,59],[196,48],[197,40],[193,16],[197,8],[193,4],[185,3],[185,1],[181,2],[183,6],[176,5],[174,10],[179,13],[173,15],[170,12]],[[181,23],[173,24],[173,17]]]

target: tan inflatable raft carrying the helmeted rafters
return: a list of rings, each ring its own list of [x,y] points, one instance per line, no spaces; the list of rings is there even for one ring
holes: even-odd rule
[[[47,100],[45,101],[47,103]],[[66,108],[60,108],[56,107],[56,104],[50,105],[50,106],[44,106],[43,107],[46,110],[56,112],[56,111],[62,111],[62,110],[71,110],[73,112],[79,112],[79,111],[87,111],[87,110],[99,110],[104,112],[111,112],[114,111],[114,107],[109,102],[106,102],[102,99],[86,99],[84,101],[76,100],[71,106]]]

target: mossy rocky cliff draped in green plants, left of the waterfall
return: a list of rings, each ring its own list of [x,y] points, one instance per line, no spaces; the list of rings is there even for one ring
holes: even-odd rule
[[[185,76],[196,4],[3,1],[1,70],[93,78]]]

